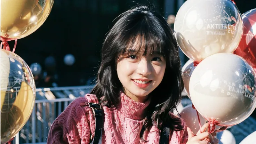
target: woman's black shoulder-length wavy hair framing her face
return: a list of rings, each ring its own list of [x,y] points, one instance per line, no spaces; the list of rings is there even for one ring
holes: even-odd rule
[[[103,42],[101,65],[91,92],[102,105],[111,107],[119,103],[122,84],[117,76],[117,59],[134,45],[138,36],[141,37],[138,51],[143,50],[144,55],[154,51],[162,54],[166,60],[166,70],[160,85],[150,93],[151,102],[145,111],[142,139],[144,131],[152,125],[159,129],[164,125],[172,130],[183,130],[181,119],[169,114],[181,101],[184,88],[178,45],[165,18],[153,8],[138,5],[115,19]]]

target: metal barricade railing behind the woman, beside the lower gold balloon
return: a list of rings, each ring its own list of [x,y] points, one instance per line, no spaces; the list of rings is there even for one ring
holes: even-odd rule
[[[90,93],[93,86],[37,88],[34,109],[13,144],[45,144],[51,124],[76,98]]]

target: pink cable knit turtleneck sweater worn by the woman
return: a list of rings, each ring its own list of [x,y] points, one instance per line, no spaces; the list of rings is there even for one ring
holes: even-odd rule
[[[95,120],[89,106],[80,106],[80,103],[98,102],[95,95],[75,99],[51,125],[47,144],[90,144],[90,137],[94,134]],[[125,94],[121,94],[121,102],[117,107],[103,106],[104,144],[158,144],[160,130],[156,126],[150,127],[144,133],[147,143],[140,140],[140,131],[143,126],[143,112],[150,101],[135,102]],[[173,131],[169,137],[169,144],[185,144],[187,131]]]

